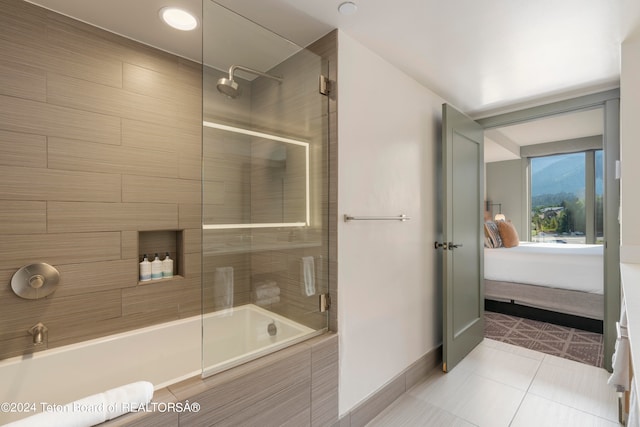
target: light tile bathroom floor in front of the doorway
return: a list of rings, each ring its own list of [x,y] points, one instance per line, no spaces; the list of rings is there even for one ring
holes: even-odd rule
[[[616,427],[618,397],[601,368],[485,338],[434,371],[368,426]]]

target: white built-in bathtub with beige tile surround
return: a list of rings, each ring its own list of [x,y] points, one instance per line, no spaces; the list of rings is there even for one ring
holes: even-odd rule
[[[268,332],[272,323],[274,336]],[[26,404],[39,412],[47,404],[63,405],[140,380],[157,390],[322,332],[253,304],[140,328],[0,361],[0,404],[9,402],[14,409]],[[0,410],[0,425],[28,415]]]

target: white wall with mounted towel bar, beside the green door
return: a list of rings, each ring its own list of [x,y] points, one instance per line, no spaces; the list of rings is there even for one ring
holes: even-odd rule
[[[437,144],[443,100],[340,32],[340,414],[441,342]]]

